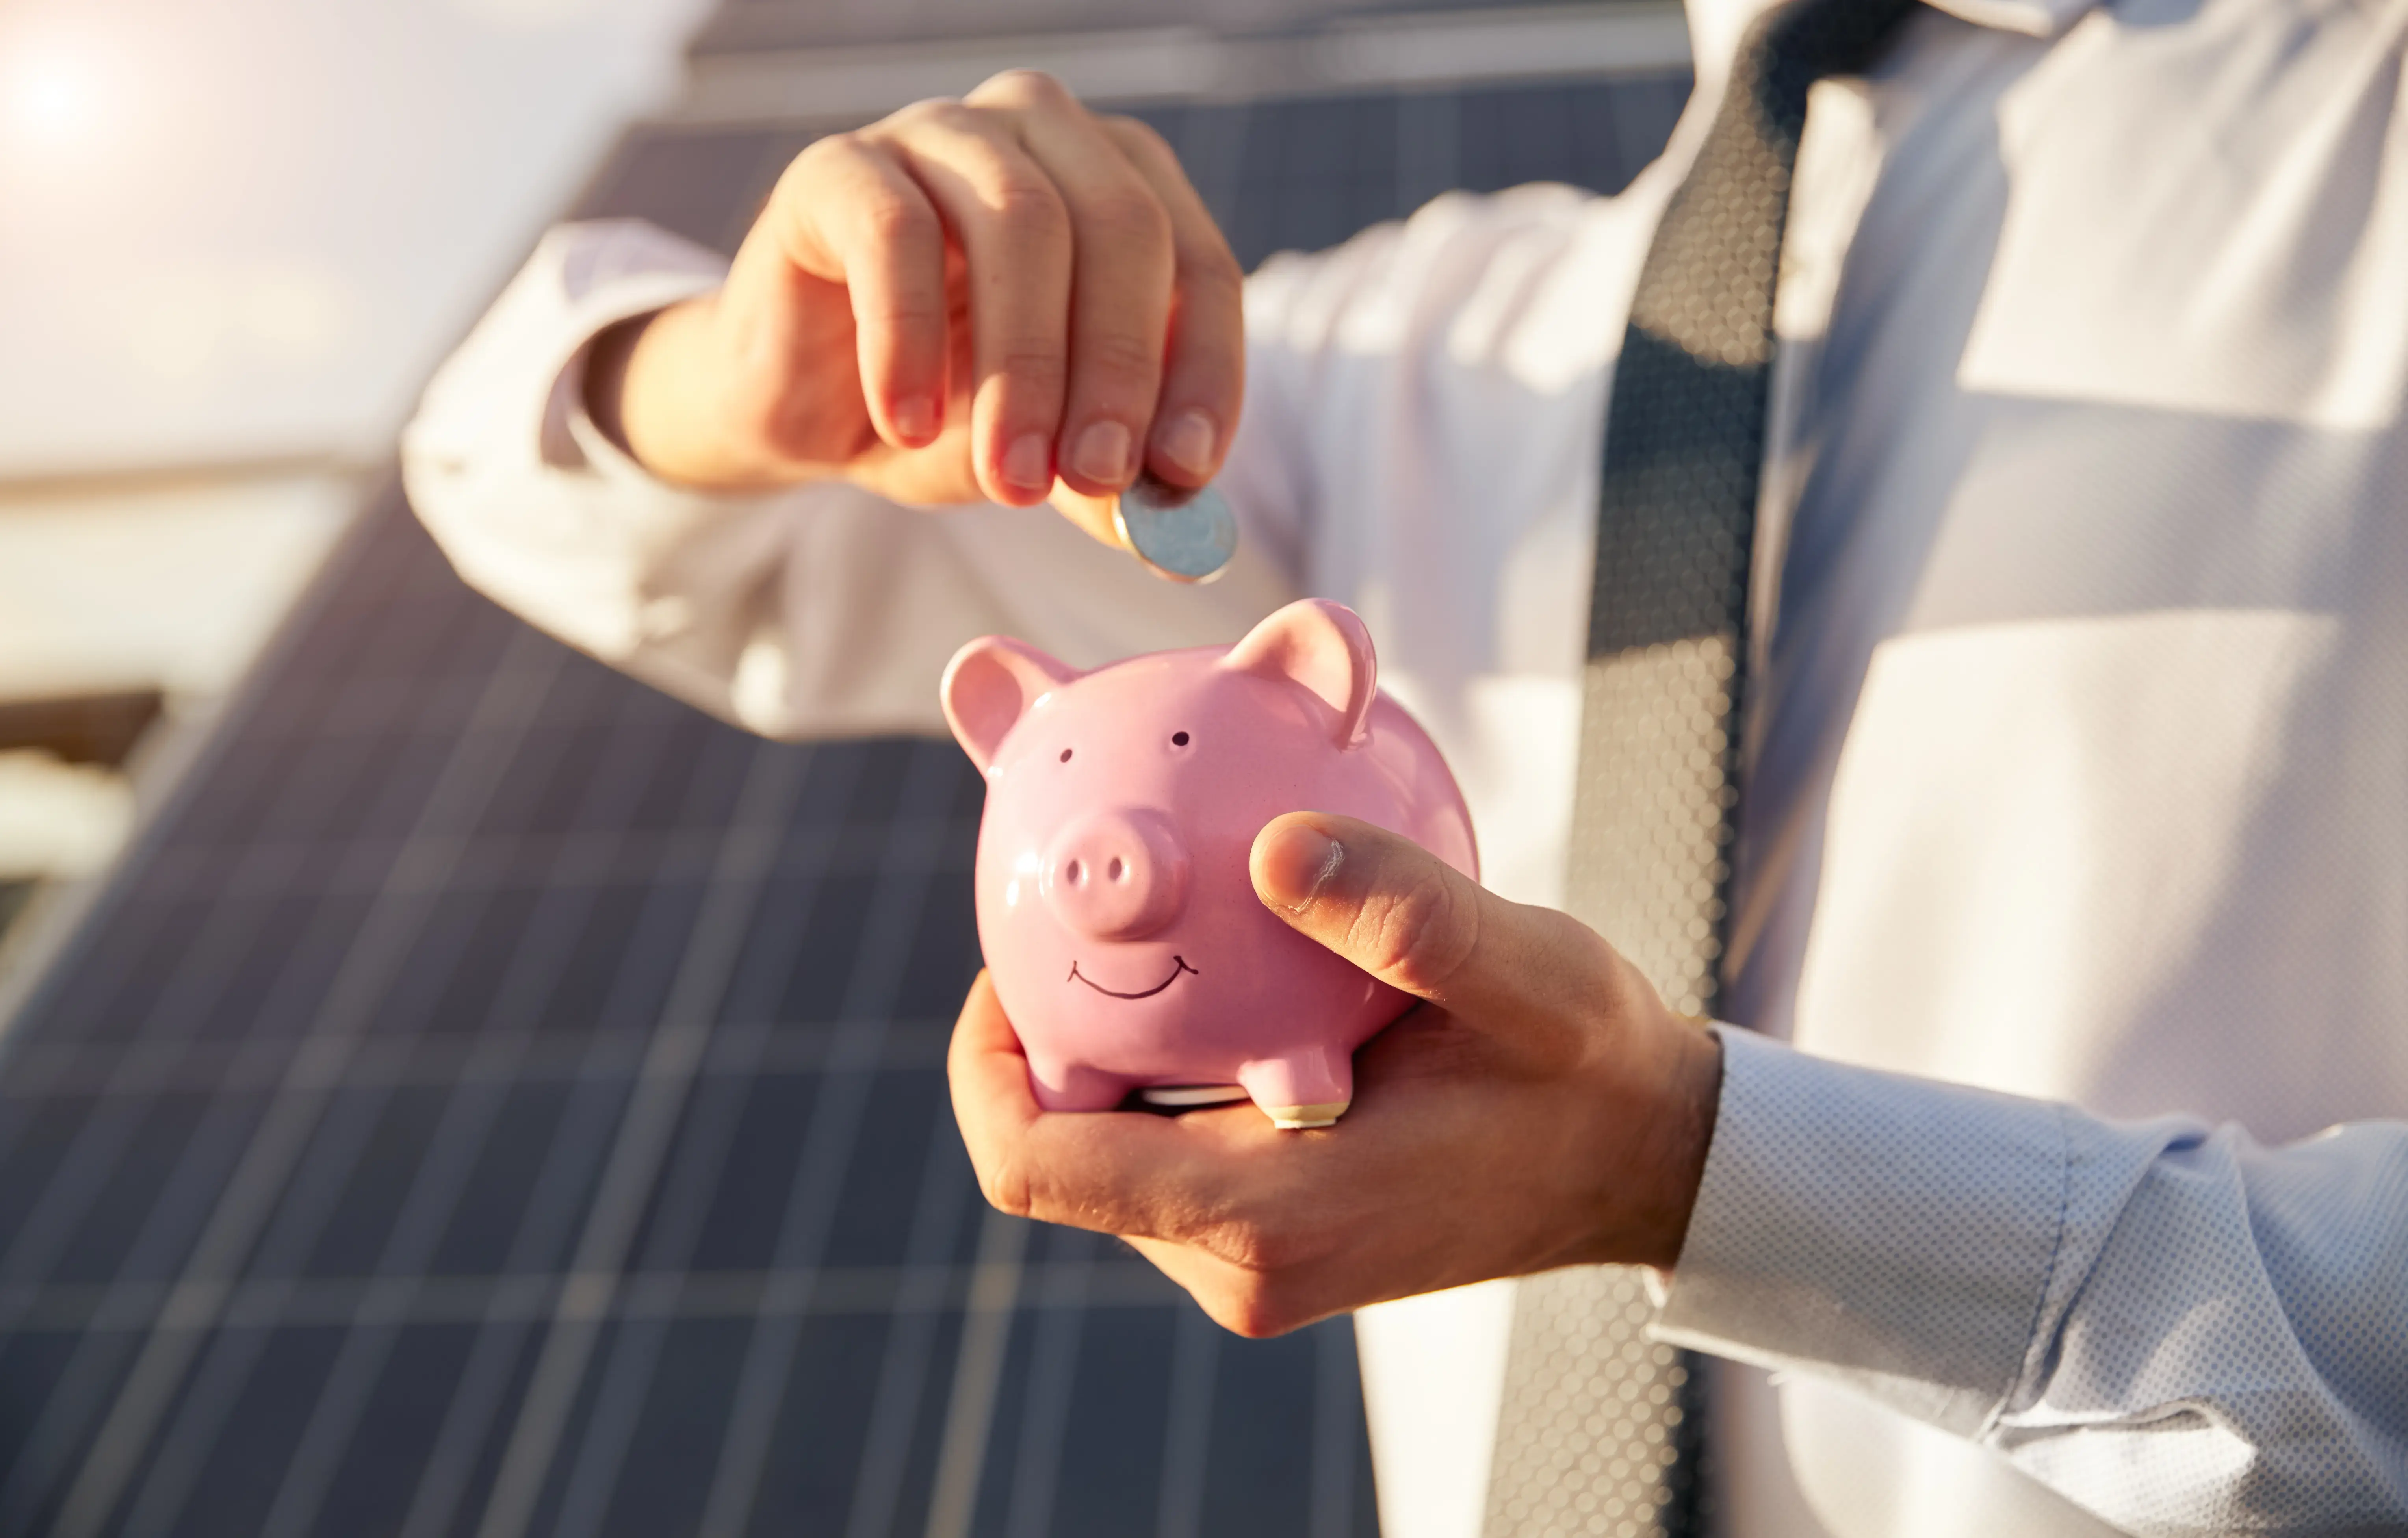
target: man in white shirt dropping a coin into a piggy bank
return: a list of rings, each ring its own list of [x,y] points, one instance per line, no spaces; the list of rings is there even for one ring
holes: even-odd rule
[[[1428,1001],[1346,1122],[1045,1117],[985,982],[956,1035],[987,1194],[1223,1324],[1649,1264],[1662,1333],[1789,1370],[1837,1533],[2408,1531],[2408,14],[1948,0],[1816,87],[1719,994],[1789,1052],[1551,912],[1609,385],[1746,10],[1693,10],[1621,197],[1447,197],[1243,320],[1163,144],[1031,75],[814,144],[725,277],[556,231],[412,496],[780,734],[932,724],[978,631],[1368,616],[1491,891],[1257,840],[1274,912]],[[1035,510],[1108,539],[1139,469],[1218,479],[1252,563],[1146,590]]]

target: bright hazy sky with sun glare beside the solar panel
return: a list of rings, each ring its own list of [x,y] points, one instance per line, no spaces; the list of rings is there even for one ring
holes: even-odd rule
[[[0,481],[373,460],[708,0],[0,0]]]

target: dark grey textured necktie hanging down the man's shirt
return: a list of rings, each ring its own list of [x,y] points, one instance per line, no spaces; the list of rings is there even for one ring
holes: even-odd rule
[[[1613,373],[1565,907],[1681,1013],[1719,989],[1772,284],[1806,89],[1861,72],[1914,0],[1792,0],[1748,29],[1657,226]],[[1635,1271],[1522,1283],[1488,1538],[1690,1538],[1700,1379],[1642,1336]]]

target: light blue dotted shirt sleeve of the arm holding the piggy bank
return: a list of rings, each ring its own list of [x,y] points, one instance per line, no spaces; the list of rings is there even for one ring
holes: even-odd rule
[[[1722,1045],[1662,1338],[1852,1384],[2131,1533],[2408,1531],[2408,1122],[2261,1148]]]

